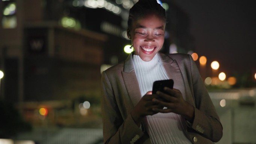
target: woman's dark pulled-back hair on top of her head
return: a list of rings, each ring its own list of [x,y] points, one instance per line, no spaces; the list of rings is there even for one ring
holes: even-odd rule
[[[132,21],[155,14],[166,22],[165,9],[156,0],[139,0],[129,11],[128,28]]]

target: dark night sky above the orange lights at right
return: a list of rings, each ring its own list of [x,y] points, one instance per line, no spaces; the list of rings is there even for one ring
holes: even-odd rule
[[[255,0],[174,0],[190,18],[195,52],[219,72],[256,73]]]

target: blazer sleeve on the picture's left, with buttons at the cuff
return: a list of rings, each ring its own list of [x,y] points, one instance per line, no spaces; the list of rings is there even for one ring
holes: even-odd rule
[[[101,78],[101,112],[104,144],[133,144],[144,133],[128,114],[125,119],[119,110],[115,93],[105,71]]]

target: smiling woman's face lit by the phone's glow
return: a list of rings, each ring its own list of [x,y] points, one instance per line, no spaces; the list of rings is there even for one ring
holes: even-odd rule
[[[135,55],[139,55],[143,61],[151,61],[164,44],[165,22],[156,15],[133,21],[131,30],[127,30],[131,36]]]

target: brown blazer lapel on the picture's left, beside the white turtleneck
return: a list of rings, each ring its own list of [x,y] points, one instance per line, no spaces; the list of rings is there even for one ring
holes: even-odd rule
[[[140,87],[138,85],[138,80],[134,71],[134,66],[132,62],[132,54],[131,53],[128,58],[125,60],[124,71],[122,72],[122,76],[124,79],[124,83],[128,92],[128,95],[131,99],[133,106],[137,105],[137,103],[141,99]]]

